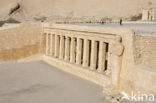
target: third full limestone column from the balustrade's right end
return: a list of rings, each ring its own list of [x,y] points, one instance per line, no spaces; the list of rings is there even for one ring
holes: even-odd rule
[[[89,64],[89,40],[84,39],[83,46],[83,66],[88,67]]]

